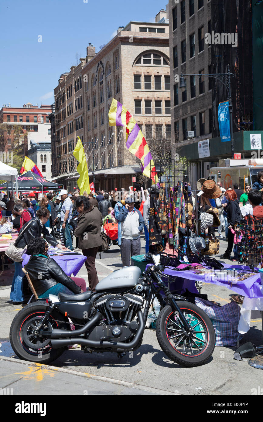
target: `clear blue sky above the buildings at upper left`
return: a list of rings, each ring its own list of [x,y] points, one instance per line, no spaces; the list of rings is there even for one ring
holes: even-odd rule
[[[61,73],[130,21],[154,22],[168,0],[1,0],[0,108],[54,102]],[[42,35],[42,42],[38,36]],[[39,38],[40,39],[40,38]],[[79,63],[79,62],[78,62]]]

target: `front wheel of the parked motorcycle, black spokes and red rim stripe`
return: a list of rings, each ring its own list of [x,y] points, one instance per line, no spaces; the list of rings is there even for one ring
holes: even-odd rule
[[[165,306],[158,315],[156,336],[163,352],[179,365],[204,365],[215,346],[215,333],[211,320],[202,309],[184,300],[176,302],[190,325],[184,329],[178,312]]]

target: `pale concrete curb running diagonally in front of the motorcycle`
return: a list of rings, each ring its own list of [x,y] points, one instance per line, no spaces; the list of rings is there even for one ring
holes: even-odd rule
[[[70,373],[72,375],[82,376],[84,378],[91,378],[97,381],[104,381],[104,382],[108,382],[112,384],[123,385],[124,387],[128,387],[128,388],[137,388],[138,390],[143,390],[143,391],[147,391],[147,392],[151,392],[151,393],[155,393],[159,395],[178,395],[178,393],[176,394],[171,391],[160,390],[159,388],[148,387],[146,385],[136,384],[134,382],[121,381],[119,379],[108,378],[106,376],[100,376],[100,375],[94,375],[87,372],[72,371],[71,369],[57,368],[57,366],[50,366],[50,365],[44,365],[43,363],[36,363],[36,362],[30,362],[27,360],[14,359],[13,357],[0,356],[0,360],[7,360],[8,362],[18,362],[18,363],[22,363],[23,365],[36,366],[37,368],[43,367],[45,369],[49,369],[52,371]]]

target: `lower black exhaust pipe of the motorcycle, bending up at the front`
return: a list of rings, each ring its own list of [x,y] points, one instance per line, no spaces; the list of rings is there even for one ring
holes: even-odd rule
[[[99,313],[99,312],[98,312]],[[133,341],[130,341],[130,343],[123,343],[121,341],[117,343],[111,343],[110,341],[101,340],[101,341],[94,341],[94,340],[88,340],[87,338],[78,337],[78,338],[60,338],[60,339],[54,339],[51,340],[51,345],[53,349],[59,349],[60,347],[66,347],[70,346],[71,344],[80,344],[81,346],[87,346],[92,348],[111,348],[111,349],[125,349],[125,350],[131,350],[134,347],[136,347],[141,339],[141,336],[144,332],[144,318],[141,311],[138,311],[138,322],[139,322],[139,328],[138,331],[133,338]],[[95,318],[95,317],[94,317]],[[93,319],[91,321],[93,321]],[[90,322],[91,322],[90,321]],[[84,328],[84,327],[83,327]],[[54,330],[53,330],[54,331]],[[59,330],[63,331],[63,330]],[[79,330],[78,330],[79,331]],[[71,333],[73,333],[71,331]],[[65,337],[65,336],[64,336]]]

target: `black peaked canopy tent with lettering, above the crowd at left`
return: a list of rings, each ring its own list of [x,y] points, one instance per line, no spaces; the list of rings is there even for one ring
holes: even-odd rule
[[[44,179],[41,176],[38,176],[38,174],[33,173],[33,171],[27,171],[23,173],[21,176],[17,179],[18,182],[18,191],[19,192],[25,192],[25,191],[45,191],[45,190],[59,190],[63,189],[63,185],[51,182],[49,180]],[[0,185],[0,192],[12,190],[12,184],[11,182],[5,182]]]

